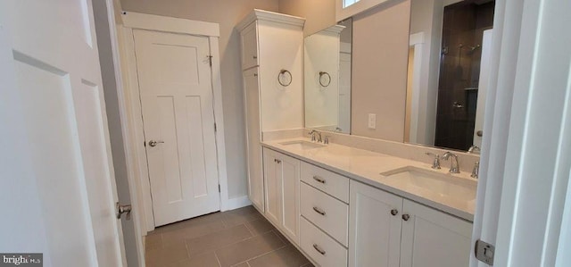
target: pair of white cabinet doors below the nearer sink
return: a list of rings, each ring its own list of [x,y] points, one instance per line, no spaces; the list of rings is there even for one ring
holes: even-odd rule
[[[472,223],[351,181],[349,266],[468,266]]]

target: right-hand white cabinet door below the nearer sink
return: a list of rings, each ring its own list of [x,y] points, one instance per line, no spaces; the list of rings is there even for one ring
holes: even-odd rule
[[[404,200],[401,266],[468,266],[472,223]]]

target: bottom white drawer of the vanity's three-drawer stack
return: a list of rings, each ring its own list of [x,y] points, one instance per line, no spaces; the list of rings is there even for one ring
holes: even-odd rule
[[[347,249],[305,218],[300,220],[300,246],[320,266],[347,266]]]

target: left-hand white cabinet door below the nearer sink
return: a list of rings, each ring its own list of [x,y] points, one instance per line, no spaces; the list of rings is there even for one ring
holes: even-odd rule
[[[349,204],[349,266],[399,266],[402,198],[352,180]]]

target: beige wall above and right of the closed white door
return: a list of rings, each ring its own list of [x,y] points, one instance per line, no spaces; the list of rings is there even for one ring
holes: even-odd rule
[[[219,23],[229,198],[246,196],[248,192],[240,35],[234,27],[254,8],[277,12],[277,3],[277,0],[121,0],[126,11]]]

